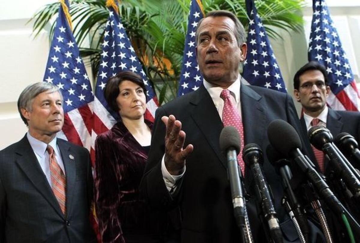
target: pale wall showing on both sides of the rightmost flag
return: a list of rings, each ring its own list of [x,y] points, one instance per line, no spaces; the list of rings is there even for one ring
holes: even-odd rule
[[[270,40],[274,48],[288,93],[293,96],[293,77],[298,69],[307,63],[307,47],[312,19],[312,0],[306,0],[307,5],[302,11],[305,21],[301,33],[288,33],[280,30],[282,39]],[[350,66],[357,86],[360,87],[360,1],[359,0],[327,0],[329,11],[337,28],[342,47],[349,57]],[[300,113],[300,103],[294,101]]]

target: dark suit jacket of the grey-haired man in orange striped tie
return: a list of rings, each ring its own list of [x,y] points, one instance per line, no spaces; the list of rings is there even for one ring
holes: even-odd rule
[[[93,190],[89,152],[57,141],[66,172],[66,216],[26,136],[0,151],[1,243],[95,242],[89,222]]]

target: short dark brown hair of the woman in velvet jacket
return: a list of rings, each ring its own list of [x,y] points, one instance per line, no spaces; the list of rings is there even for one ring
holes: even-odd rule
[[[116,103],[116,98],[120,93],[119,85],[122,81],[130,81],[138,84],[146,94],[145,84],[143,82],[143,79],[138,74],[130,71],[117,73],[115,76],[108,79],[104,90],[105,100],[110,106],[110,108],[115,112],[119,111],[119,107]]]

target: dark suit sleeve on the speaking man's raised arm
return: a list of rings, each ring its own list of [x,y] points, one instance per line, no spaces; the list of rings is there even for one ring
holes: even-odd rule
[[[164,115],[168,114],[166,114],[163,107],[159,107],[156,110],[151,148],[145,172],[141,180],[140,190],[153,207],[171,209],[176,206],[176,202],[168,192],[161,172],[161,159],[165,154],[166,127],[161,120]],[[176,191],[180,190],[180,184]],[[174,192],[173,195],[176,194],[178,193]]]

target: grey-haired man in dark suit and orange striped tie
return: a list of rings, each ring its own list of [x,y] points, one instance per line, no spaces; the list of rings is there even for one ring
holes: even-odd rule
[[[18,110],[28,132],[0,151],[0,242],[95,242],[89,222],[89,152],[56,137],[63,97],[53,84],[26,87]]]

